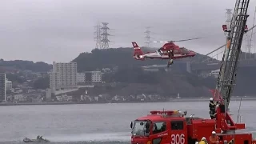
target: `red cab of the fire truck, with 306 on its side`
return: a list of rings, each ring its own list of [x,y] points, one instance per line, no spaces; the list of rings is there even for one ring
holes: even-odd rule
[[[150,111],[130,123],[132,144],[186,144],[186,118],[179,111]]]

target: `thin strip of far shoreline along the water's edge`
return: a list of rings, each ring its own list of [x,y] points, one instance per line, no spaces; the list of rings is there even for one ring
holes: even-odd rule
[[[251,101],[256,100],[256,97],[234,97],[231,101]],[[155,102],[206,102],[209,98],[170,98],[169,101],[155,101]],[[5,102],[0,103],[0,106],[22,106],[22,105],[74,105],[74,104],[102,104],[102,103],[142,103],[143,101],[134,102]],[[154,102],[154,101],[144,101],[144,102]]]

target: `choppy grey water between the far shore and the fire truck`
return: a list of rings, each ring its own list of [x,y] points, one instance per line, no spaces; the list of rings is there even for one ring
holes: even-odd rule
[[[256,101],[243,101],[240,113],[256,132]],[[23,143],[43,135],[51,143],[130,143],[130,121],[150,110],[188,110],[209,117],[208,102],[122,103],[50,106],[0,106],[0,143]],[[239,102],[231,102],[236,121]]]

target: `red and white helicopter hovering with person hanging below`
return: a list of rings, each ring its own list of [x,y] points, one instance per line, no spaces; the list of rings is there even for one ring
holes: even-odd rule
[[[190,38],[184,39],[179,41],[170,41],[164,42],[164,44],[160,49],[156,50],[155,52],[148,52],[147,54],[143,54],[141,48],[138,46],[137,42],[132,42],[134,46],[134,58],[136,60],[145,60],[146,58],[158,58],[158,59],[170,59],[168,61],[167,66],[169,67],[174,63],[174,59],[178,58],[187,58],[187,57],[194,57],[196,53],[192,50],[187,50],[185,47],[179,47],[174,44],[174,42],[183,42],[183,41],[190,41],[199,38]]]

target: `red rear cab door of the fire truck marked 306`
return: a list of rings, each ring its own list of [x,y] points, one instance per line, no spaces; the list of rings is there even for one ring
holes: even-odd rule
[[[183,120],[170,122],[170,144],[187,144],[187,132]]]

